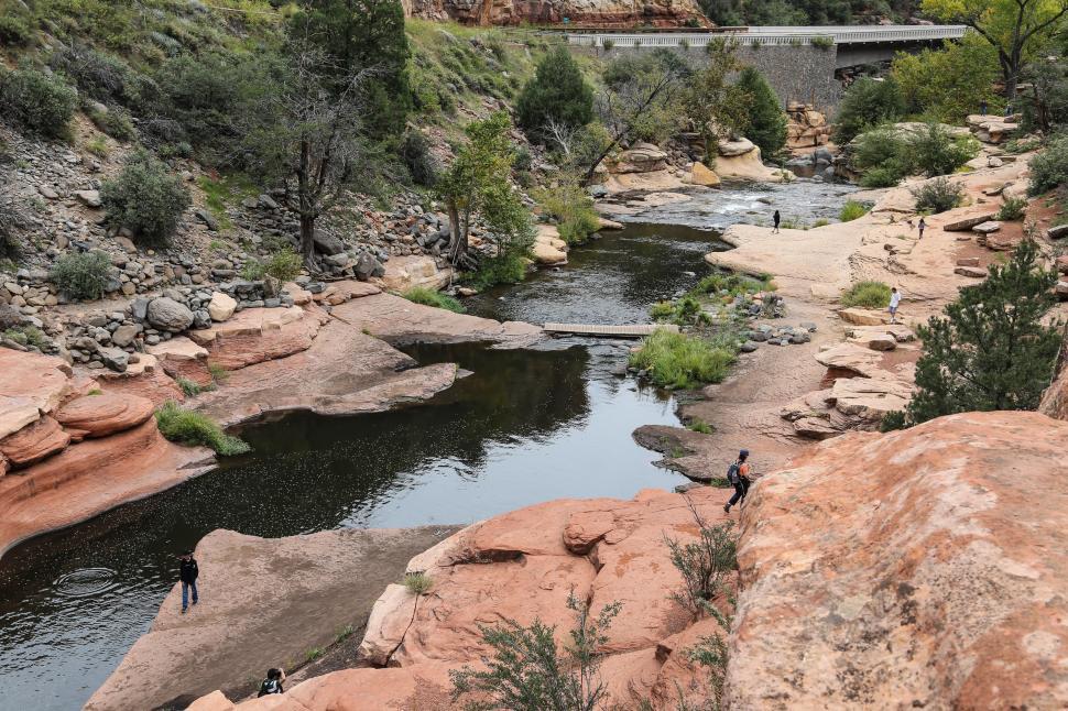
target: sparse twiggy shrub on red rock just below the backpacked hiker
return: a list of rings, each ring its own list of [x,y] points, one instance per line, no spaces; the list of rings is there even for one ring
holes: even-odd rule
[[[711,526],[689,497],[686,505],[697,524],[698,539],[684,544],[665,535],[664,544],[672,565],[683,576],[683,589],[673,593],[672,599],[699,616],[708,610],[710,601],[724,591],[727,576],[738,567],[738,540],[733,522]]]

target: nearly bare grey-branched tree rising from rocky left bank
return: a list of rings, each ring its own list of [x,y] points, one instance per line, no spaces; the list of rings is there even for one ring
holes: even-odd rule
[[[285,186],[284,201],[299,219],[301,254],[309,267],[316,266],[316,220],[371,167],[362,132],[363,87],[375,72],[349,72],[342,81],[341,69],[322,50],[297,37],[286,56],[268,67],[270,80],[258,85],[240,112],[249,162]]]

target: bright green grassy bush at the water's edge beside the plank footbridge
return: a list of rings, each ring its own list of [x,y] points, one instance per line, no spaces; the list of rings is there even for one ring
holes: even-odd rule
[[[694,389],[722,381],[735,358],[734,348],[727,342],[713,343],[657,329],[631,353],[630,364],[647,371],[652,381],[663,387]]]

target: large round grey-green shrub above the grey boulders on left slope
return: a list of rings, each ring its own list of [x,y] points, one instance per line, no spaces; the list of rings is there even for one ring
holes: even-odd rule
[[[100,199],[110,222],[133,230],[149,243],[166,243],[192,204],[182,179],[143,150],[128,157],[122,172],[103,183]]]

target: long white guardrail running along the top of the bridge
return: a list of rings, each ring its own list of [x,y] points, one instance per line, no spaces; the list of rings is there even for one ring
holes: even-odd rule
[[[748,28],[724,32],[672,32],[672,33],[569,33],[567,43],[603,47],[606,42],[615,47],[702,47],[716,40],[731,40],[739,44],[804,45],[826,43],[868,44],[879,42],[922,42],[933,40],[959,40],[968,28],[962,24],[894,24],[867,28]]]

